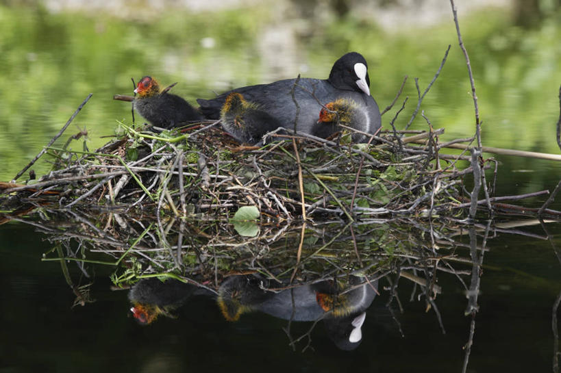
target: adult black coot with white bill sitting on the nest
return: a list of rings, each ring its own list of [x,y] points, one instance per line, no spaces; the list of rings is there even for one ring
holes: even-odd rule
[[[260,110],[279,120],[283,127],[292,129],[297,120],[297,130],[312,133],[316,127],[321,103],[338,98],[351,99],[363,108],[369,118],[369,133],[381,125],[376,101],[370,95],[370,79],[366,60],[360,53],[351,52],[340,57],[332,67],[328,79],[285,79],[269,84],[236,88]],[[201,112],[207,118],[218,119],[230,92],[210,100],[198,99]],[[296,103],[295,103],[296,101]]]

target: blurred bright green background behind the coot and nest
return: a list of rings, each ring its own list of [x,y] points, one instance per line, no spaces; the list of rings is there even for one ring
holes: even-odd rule
[[[448,1],[425,1],[419,9],[390,0],[101,3],[1,2],[0,180],[12,179],[90,92],[92,99],[55,146],[86,127],[87,144],[95,149],[108,141],[101,136],[114,133],[116,120],[130,123],[130,104],[112,96],[132,94],[131,77],[152,75],[162,86],[178,81],[173,92],[195,104],[214,92],[298,73],[327,77],[347,51],[366,57],[371,92],[382,109],[409,76],[398,103],[382,118],[388,128],[408,96],[396,122],[403,129],[416,107],[413,78],[419,78],[422,92],[451,44],[422,109],[435,128],[446,128],[442,140],[474,132],[471,89]],[[559,3],[458,0],[456,5],[484,145],[559,153]],[[427,124],[419,115],[412,128]],[[72,147],[82,149],[82,142]],[[555,162],[501,159],[512,169],[533,169],[534,181],[558,170]],[[49,164],[34,168],[42,175]]]

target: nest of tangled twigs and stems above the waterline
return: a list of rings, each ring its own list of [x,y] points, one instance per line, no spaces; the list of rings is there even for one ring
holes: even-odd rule
[[[438,132],[421,134],[425,146],[384,133],[373,138],[376,145],[345,144],[349,135],[277,135],[285,140],[257,148],[240,146],[214,124],[158,135],[124,126],[123,136],[96,152],[51,150],[57,160],[49,175],[3,191],[18,192],[18,201],[120,205],[158,215],[224,218],[254,205],[280,220],[354,220],[450,209],[470,172],[456,168],[462,156],[442,162]]]

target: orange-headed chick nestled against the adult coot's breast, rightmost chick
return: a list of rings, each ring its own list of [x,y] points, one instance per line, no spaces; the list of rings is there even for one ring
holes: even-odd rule
[[[343,128],[345,125],[358,129],[358,131],[373,133],[369,131],[370,120],[366,111],[351,99],[336,99],[327,103],[319,112],[319,120],[314,130],[314,135],[320,138],[328,138]],[[362,133],[353,133],[353,142],[367,141]]]

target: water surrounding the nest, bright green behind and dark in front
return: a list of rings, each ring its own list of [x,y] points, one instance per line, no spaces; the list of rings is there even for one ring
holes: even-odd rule
[[[14,177],[89,92],[94,97],[57,144],[77,127],[86,127],[88,146],[94,149],[106,141],[100,136],[116,131],[116,120],[129,123],[129,105],[112,101],[112,95],[131,94],[130,77],[151,74],[164,85],[179,81],[174,92],[194,102],[212,97],[212,90],[294,77],[301,70],[304,76],[326,77],[332,62],[349,50],[369,61],[371,91],[380,107],[395,97],[403,75],[410,76],[401,97],[410,99],[397,121],[399,129],[416,104],[412,78],[419,77],[424,90],[452,44],[423,108],[434,127],[446,128],[442,140],[473,134],[473,102],[453,23],[398,34],[353,19],[314,23],[314,32],[297,38],[297,63],[288,73],[269,68],[264,61],[271,58],[264,58],[258,47],[258,36],[273,16],[257,8],[212,17],[164,14],[146,22],[0,7],[0,180]],[[481,12],[461,21],[484,144],[559,153],[560,15],[531,29],[512,25],[506,12]],[[203,48],[203,38],[212,38],[215,47]],[[384,116],[384,126],[396,110]],[[413,128],[425,127],[419,116]],[[73,146],[82,149],[81,142]],[[497,158],[498,195],[552,190],[561,177],[558,162]],[[38,175],[48,168],[47,162],[35,167]],[[544,200],[523,204],[536,207]],[[561,209],[561,203],[552,208]],[[561,246],[561,225],[547,227],[553,243]],[[539,225],[521,229],[545,235]],[[469,318],[463,290],[451,274],[440,276],[444,291],[436,300],[445,335],[434,313],[425,313],[424,303],[409,303],[406,284],[400,289],[405,312],[399,316],[405,337],[385,309],[388,295],[382,292],[368,313],[357,350],[338,350],[317,328],[314,351],[292,352],[282,331],[286,322],[262,313],[226,322],[209,298],[189,303],[177,319],[139,326],[129,316],[126,292],[110,291],[110,272],[104,268],[97,270],[91,290],[96,302],[71,308],[75,297],[60,264],[40,261],[53,246],[43,238],[23,224],[0,226],[0,372],[462,370]],[[489,240],[487,247],[469,371],[551,372],[551,309],[561,291],[555,251],[546,240],[508,234]],[[301,331],[306,327],[297,326]]]

